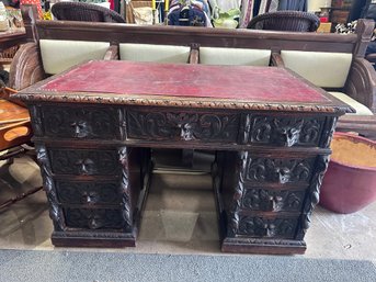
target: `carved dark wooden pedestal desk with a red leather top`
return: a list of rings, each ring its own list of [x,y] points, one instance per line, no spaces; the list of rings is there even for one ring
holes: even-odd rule
[[[303,253],[338,116],[281,68],[90,61],[27,103],[55,246],[135,246],[149,149],[215,149],[224,251]]]

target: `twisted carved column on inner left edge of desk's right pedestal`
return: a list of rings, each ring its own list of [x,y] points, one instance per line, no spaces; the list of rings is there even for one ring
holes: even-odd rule
[[[236,174],[238,176],[237,185],[232,198],[232,206],[229,213],[229,226],[227,230],[228,237],[233,237],[239,230],[239,210],[244,191],[244,171],[247,166],[248,151],[238,153],[238,163]]]

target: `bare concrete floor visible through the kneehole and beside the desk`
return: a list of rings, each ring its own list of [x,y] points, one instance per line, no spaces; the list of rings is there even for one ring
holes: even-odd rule
[[[38,167],[29,157],[18,158],[11,166],[1,165],[0,203],[41,183]],[[376,203],[349,215],[334,214],[318,206],[306,235],[307,251],[296,257],[372,260],[376,263],[375,218]],[[49,240],[52,230],[43,191],[0,211],[0,249],[54,250]],[[95,250],[219,255],[209,176],[156,173],[137,247]]]

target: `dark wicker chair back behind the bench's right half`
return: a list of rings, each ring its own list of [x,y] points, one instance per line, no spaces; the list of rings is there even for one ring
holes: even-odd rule
[[[254,16],[247,29],[289,31],[289,32],[316,32],[320,25],[320,19],[307,12],[277,11]]]

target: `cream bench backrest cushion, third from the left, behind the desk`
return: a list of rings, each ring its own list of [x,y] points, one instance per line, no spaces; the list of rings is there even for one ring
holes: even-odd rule
[[[269,49],[201,47],[200,64],[269,66],[271,53]]]

